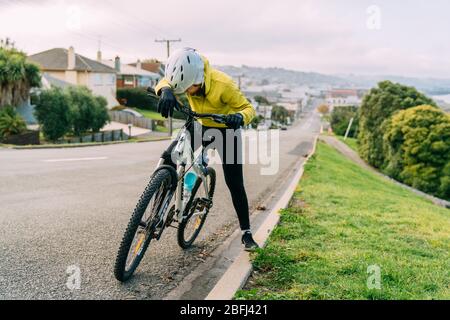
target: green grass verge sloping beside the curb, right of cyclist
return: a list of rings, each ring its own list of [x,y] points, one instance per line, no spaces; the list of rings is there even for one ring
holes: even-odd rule
[[[236,299],[450,299],[450,211],[320,143]],[[369,289],[370,266],[381,289]]]

